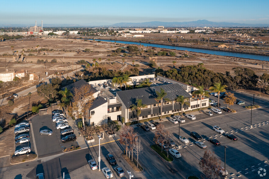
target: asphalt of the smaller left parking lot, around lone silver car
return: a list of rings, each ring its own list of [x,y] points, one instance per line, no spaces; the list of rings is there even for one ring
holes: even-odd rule
[[[61,141],[60,132],[62,130],[56,129],[55,122],[51,119],[51,114],[46,114],[42,116],[35,116],[31,120],[32,130],[34,132],[35,144],[37,147],[38,157],[52,156],[58,153],[62,153],[63,149],[66,147],[70,147],[72,145],[77,145],[76,141],[69,141],[63,143]],[[52,130],[52,135],[40,135],[40,131],[43,129]]]

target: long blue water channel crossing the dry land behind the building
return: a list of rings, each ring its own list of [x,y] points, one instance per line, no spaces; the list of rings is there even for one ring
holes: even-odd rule
[[[93,40],[93,39],[85,39],[85,40]],[[99,39],[94,39],[94,40],[99,40]],[[136,45],[141,44],[141,45],[144,45],[144,47],[149,46],[149,47],[176,49],[176,50],[182,50],[182,51],[187,50],[187,51],[200,52],[200,53],[212,54],[212,55],[250,58],[250,59],[255,59],[255,60],[269,61],[269,56],[263,56],[263,55],[241,54],[241,53],[235,53],[235,52],[215,51],[215,50],[206,50],[206,49],[199,49],[199,48],[177,47],[177,46],[170,46],[170,45],[148,44],[148,43],[140,43],[140,42],[119,41],[119,40],[100,40],[100,41],[116,42],[116,43],[121,43],[121,44],[136,44]]]

